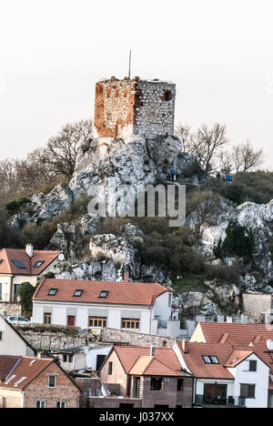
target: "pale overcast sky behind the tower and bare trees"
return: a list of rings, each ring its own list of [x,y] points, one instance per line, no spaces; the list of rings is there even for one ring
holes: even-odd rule
[[[93,117],[96,81],[177,84],[176,121],[273,141],[272,0],[0,0],[0,159]]]

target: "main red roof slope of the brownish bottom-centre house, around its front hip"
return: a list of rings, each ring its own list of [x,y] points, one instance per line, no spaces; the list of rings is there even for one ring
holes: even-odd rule
[[[139,357],[150,356],[150,348],[139,346],[115,346],[114,350],[127,374],[132,370]],[[171,348],[156,348],[155,358],[168,369],[182,370],[177,355]]]

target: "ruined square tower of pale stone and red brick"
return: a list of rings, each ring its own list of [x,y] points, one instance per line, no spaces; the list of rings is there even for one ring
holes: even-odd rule
[[[96,83],[95,127],[102,143],[111,138],[174,134],[176,85],[167,81],[118,80]]]

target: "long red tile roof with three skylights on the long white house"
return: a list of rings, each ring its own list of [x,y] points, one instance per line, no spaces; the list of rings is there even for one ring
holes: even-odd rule
[[[50,289],[57,289],[56,296],[48,296]],[[81,297],[74,297],[76,289],[83,290]],[[108,291],[106,298],[99,297],[103,290]],[[153,306],[157,297],[167,291],[170,290],[157,283],[42,279],[33,299]]]

